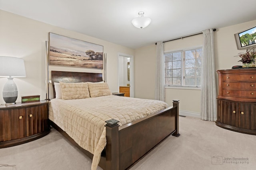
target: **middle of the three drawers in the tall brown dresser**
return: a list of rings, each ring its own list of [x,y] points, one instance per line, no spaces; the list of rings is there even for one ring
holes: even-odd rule
[[[255,89],[256,82],[223,82],[224,89]]]

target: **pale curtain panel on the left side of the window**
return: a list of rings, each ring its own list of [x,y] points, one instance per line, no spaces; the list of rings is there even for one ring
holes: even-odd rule
[[[162,41],[156,44],[156,88],[155,100],[165,101],[165,88],[164,88],[164,45]]]

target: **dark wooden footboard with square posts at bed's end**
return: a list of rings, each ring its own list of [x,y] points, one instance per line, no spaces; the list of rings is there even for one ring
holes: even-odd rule
[[[180,136],[179,101],[169,107],[119,127],[118,121],[106,121],[106,170],[124,170],[133,166],[168,136]]]

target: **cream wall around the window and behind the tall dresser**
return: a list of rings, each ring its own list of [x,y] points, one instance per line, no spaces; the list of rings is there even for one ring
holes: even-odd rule
[[[242,65],[241,62],[238,63],[239,57],[234,56],[245,51],[245,49],[237,50],[234,34],[255,25],[256,20],[220,28],[214,32],[216,70],[230,69],[234,65]],[[203,35],[195,35],[164,43],[164,50],[176,51],[198,47],[202,45],[202,42]],[[156,45],[136,49],[135,56],[135,96],[137,98],[154,99]],[[217,76],[216,73],[216,78]],[[216,79],[216,83],[218,83],[218,79]],[[191,112],[192,115],[196,114],[197,116],[201,110],[200,93],[201,90],[166,89],[166,102],[169,106],[172,106],[172,100],[180,100],[180,110],[182,112]]]

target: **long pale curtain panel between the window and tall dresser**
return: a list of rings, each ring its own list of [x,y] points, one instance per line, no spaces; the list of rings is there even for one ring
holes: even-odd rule
[[[202,87],[201,87],[201,119],[216,121],[216,80],[214,65],[214,32],[206,29],[203,32],[202,51]]]

